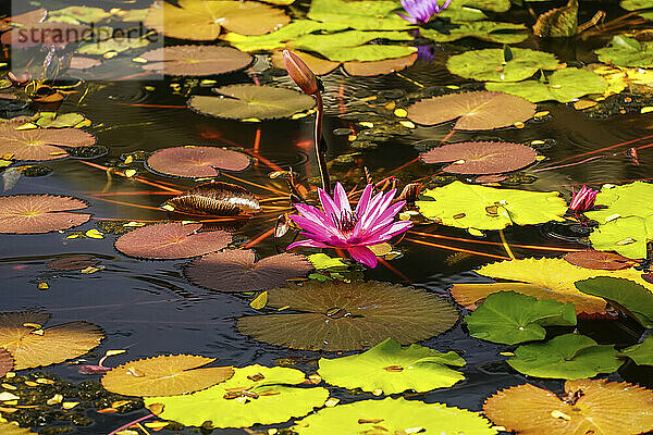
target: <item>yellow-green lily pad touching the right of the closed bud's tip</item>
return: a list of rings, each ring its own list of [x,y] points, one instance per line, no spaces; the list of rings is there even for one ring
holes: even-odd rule
[[[408,41],[412,37],[405,32],[361,32],[347,30],[329,35],[304,35],[295,39],[294,48],[315,51],[329,60],[348,61],[380,61],[383,59],[402,58],[417,51],[415,47],[393,45],[367,45],[373,39]]]

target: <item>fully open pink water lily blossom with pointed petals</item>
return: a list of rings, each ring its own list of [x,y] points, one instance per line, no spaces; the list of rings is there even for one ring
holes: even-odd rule
[[[405,201],[391,206],[396,189],[387,194],[377,194],[372,198],[372,185],[368,185],[352,211],[347,194],[337,183],[333,199],[322,189],[318,189],[323,212],[312,206],[296,203],[301,215],[293,214],[291,219],[306,233],[300,233],[308,240],[295,241],[287,249],[295,247],[344,248],[359,263],[377,266],[377,256],[368,246],[379,245],[405,232],[412,226],[409,221],[394,222],[394,216],[402,210]]]

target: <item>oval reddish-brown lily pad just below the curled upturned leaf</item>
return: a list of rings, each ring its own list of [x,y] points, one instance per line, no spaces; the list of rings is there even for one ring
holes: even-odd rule
[[[153,224],[123,234],[115,249],[130,257],[173,260],[226,248],[232,236],[223,231],[198,233],[201,224]]]

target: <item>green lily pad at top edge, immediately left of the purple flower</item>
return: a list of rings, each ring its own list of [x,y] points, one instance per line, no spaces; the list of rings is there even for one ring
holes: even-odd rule
[[[341,23],[360,30],[401,30],[412,24],[394,13],[401,9],[398,1],[312,0],[308,11],[310,20]]]

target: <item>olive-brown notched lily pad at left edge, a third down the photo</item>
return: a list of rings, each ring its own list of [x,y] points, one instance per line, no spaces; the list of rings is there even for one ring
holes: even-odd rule
[[[88,147],[95,137],[78,128],[15,129],[13,123],[0,126],[0,156],[16,160],[54,160],[69,156],[58,147]]]

